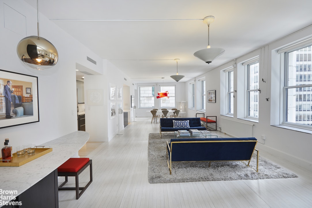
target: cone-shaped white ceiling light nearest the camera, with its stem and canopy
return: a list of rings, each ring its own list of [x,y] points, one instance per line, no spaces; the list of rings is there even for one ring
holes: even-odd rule
[[[215,17],[208,16],[203,19],[203,22],[208,25],[208,46],[205,49],[196,51],[194,56],[205,61],[207,64],[211,63],[215,58],[221,56],[225,50],[222,48],[211,48],[209,44],[209,26],[214,21]]]

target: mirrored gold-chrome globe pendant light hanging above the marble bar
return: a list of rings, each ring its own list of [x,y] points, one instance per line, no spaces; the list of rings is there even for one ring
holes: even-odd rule
[[[17,44],[17,55],[28,67],[45,70],[56,65],[58,53],[53,44],[39,36],[39,11],[37,0],[38,36],[27,36]]]

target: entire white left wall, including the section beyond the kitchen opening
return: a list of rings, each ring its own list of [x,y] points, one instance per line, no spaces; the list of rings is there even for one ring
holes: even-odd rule
[[[0,69],[38,77],[40,122],[1,128],[0,142],[2,139],[4,142],[4,138],[9,138],[13,148],[24,143],[39,145],[77,130],[77,63],[94,71],[95,74],[101,74],[86,75],[85,98],[87,89],[103,89],[105,96],[105,103],[101,107],[85,104],[86,129],[90,131],[90,140],[109,141],[114,137],[118,128],[116,119],[109,119],[108,116],[109,82],[119,86],[129,85],[130,92],[134,94],[131,80],[110,62],[102,60],[40,13],[40,36],[53,43],[58,51],[59,61],[50,70],[31,70],[18,60],[16,46],[22,38],[37,35],[37,10],[24,1],[0,0],[0,11],[4,11],[4,7],[9,8],[12,14],[7,18],[0,12],[0,22],[2,22]],[[20,21],[21,18],[25,22]],[[24,31],[16,31],[14,27],[24,28]],[[8,28],[13,28],[13,31]],[[97,64],[88,61],[87,56]],[[116,74],[119,76],[117,77]],[[124,77],[128,81],[125,81]]]

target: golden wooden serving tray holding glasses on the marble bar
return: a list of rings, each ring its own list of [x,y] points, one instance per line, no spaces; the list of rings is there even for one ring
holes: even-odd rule
[[[25,155],[17,156],[16,152],[13,153],[12,162],[2,162],[0,161],[0,167],[19,167],[27,162],[30,162],[34,159],[37,159],[38,157],[41,157],[42,155],[45,155],[48,152],[52,152],[52,148],[35,148],[35,153],[29,155],[25,153]],[[1,160],[2,158],[0,158]]]

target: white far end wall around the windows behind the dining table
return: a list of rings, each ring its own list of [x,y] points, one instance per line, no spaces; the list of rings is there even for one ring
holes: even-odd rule
[[[176,85],[176,93],[175,93],[175,101],[176,103],[178,101],[186,101],[186,94],[184,92],[185,89],[185,83],[184,82],[165,82],[165,83],[138,83],[138,89],[136,90],[135,97],[134,97],[134,103],[137,108],[135,109],[135,116],[136,117],[151,117],[151,111],[154,108],[139,108],[139,87],[140,86],[154,86],[155,90],[155,96],[154,96],[154,104],[156,109],[160,109],[159,107],[159,99],[156,98],[157,93],[159,91],[159,85]],[[169,94],[170,97],[170,94]],[[184,115],[183,115],[184,116]]]

